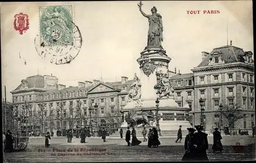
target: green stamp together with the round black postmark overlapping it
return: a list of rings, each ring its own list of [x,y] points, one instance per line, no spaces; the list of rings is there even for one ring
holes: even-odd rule
[[[35,37],[35,49],[42,59],[53,64],[70,63],[78,55],[82,37],[72,21],[72,6],[39,8],[40,33]]]

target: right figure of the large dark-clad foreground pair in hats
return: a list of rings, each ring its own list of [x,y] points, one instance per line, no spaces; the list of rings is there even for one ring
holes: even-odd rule
[[[197,133],[194,134],[195,158],[197,160],[209,160],[206,150],[208,149],[207,133],[202,132],[203,126],[195,126]]]

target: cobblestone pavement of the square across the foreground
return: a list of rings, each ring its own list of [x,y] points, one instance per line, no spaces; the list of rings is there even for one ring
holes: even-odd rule
[[[236,146],[236,138],[233,139],[233,143],[224,139],[223,153],[212,153],[209,139],[209,160],[254,160],[255,144],[249,144],[253,143],[254,139],[237,137],[240,142],[243,140],[240,148]],[[80,144],[77,138],[74,138],[71,144],[66,143],[67,138],[59,138],[54,142],[53,140],[49,148],[37,141],[38,144],[30,143],[26,150],[4,153],[4,162],[180,161],[184,154],[184,139],[182,143],[174,143],[175,138],[160,139],[161,145],[158,148],[148,148],[146,142],[139,146],[127,147],[124,139],[108,139],[103,143],[102,139],[87,138],[85,144]]]

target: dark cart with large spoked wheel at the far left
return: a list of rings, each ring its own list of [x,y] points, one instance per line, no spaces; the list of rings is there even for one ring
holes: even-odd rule
[[[27,148],[29,143],[29,136],[24,133],[13,133],[13,149],[18,147],[20,150],[24,150]]]

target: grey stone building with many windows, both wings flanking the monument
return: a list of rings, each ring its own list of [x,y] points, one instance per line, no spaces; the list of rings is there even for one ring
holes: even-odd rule
[[[178,105],[191,108],[193,125],[200,124],[199,99],[202,98],[206,130],[212,127],[220,128],[220,104],[237,104],[244,112],[244,117],[233,124],[234,128],[251,130],[251,125],[255,124],[252,52],[244,52],[243,49],[232,45],[215,48],[210,53],[202,52],[202,62],[191,71],[190,74],[172,75],[170,81],[176,91],[175,98]],[[61,122],[59,119],[45,121],[43,126],[46,129],[51,126],[49,121],[52,121],[52,126],[55,128],[61,126],[61,128],[70,128],[71,122],[68,120],[70,117],[67,117],[70,114],[71,104],[73,117],[76,117],[75,112],[79,112],[81,117],[76,122],[72,122],[73,126],[89,125],[89,107],[90,104],[95,105],[95,103],[98,104],[98,123],[103,123],[105,117],[110,116],[109,113],[115,113],[126,105],[127,91],[132,83],[133,80],[121,77],[119,82],[94,80],[78,82],[76,87],[66,87],[58,84],[58,79],[52,75],[35,75],[22,80],[22,83],[11,93],[15,108],[19,111],[31,106],[30,110],[25,111],[27,117],[40,112],[38,103],[41,102],[47,103],[47,109],[44,110],[46,117],[50,114],[54,114],[55,117],[60,114],[65,115]],[[94,116],[93,110],[92,117]],[[222,118],[222,122],[223,126],[227,125],[225,118]],[[34,126],[39,128],[40,124]]]

